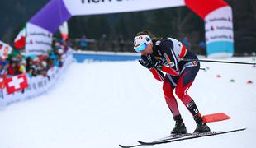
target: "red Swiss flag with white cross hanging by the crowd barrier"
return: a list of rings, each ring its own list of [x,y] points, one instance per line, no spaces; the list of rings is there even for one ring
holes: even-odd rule
[[[26,74],[7,77],[5,84],[8,94],[12,94],[15,91],[23,90],[28,86]]]

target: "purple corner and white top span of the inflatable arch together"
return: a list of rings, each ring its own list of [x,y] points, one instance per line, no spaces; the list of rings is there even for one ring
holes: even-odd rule
[[[29,21],[55,33],[71,16],[135,12],[184,6],[184,0],[51,0]]]

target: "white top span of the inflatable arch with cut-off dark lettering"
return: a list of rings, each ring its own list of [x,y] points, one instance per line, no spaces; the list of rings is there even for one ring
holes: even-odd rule
[[[184,6],[184,0],[63,0],[72,16],[136,12]]]

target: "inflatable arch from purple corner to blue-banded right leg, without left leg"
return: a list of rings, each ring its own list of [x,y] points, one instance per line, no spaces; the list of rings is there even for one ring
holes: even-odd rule
[[[232,10],[224,0],[51,0],[29,22],[55,33],[71,16],[136,12],[179,6],[189,7],[205,20],[206,53],[209,57],[233,55]],[[224,19],[228,21],[221,21]]]

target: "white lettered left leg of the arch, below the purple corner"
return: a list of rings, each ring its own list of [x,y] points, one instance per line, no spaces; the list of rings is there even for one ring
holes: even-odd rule
[[[51,49],[52,33],[40,26],[26,24],[26,55],[41,55]]]

